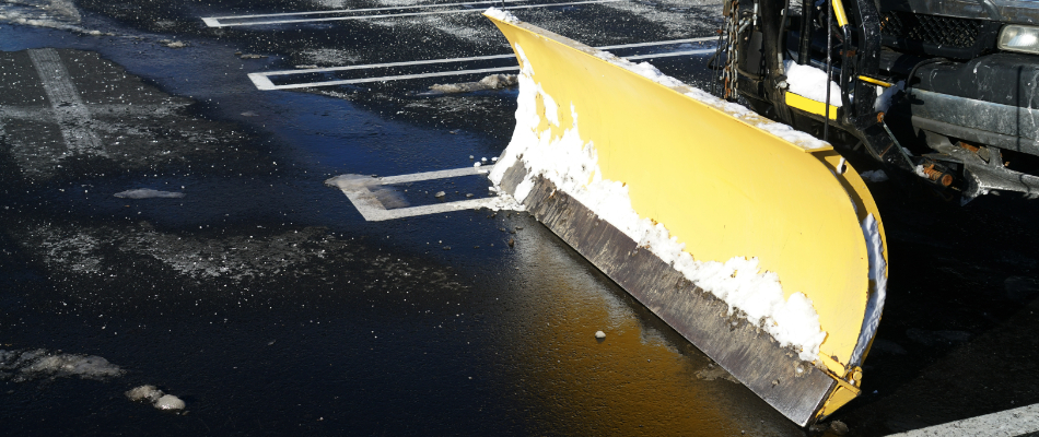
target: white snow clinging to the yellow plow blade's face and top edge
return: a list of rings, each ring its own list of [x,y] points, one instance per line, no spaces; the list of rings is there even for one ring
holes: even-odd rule
[[[534,68],[518,44],[515,50],[522,67],[516,130],[490,174],[491,181],[501,184],[505,170],[516,162],[522,162],[528,174],[516,186],[516,200],[522,202],[526,199],[538,176],[552,181],[557,189],[580,201],[640,247],[649,249],[693,284],[725,302],[729,315],[745,316],[769,332],[782,346],[798,349],[802,359],[815,361],[826,332],[821,330],[812,300],[802,293],[794,293],[790,299],[785,299],[779,276],[773,272],[761,271],[756,258],[735,257],[724,263],[697,261],[684,250],[685,244],[669,236],[664,225],[639,217],[631,206],[628,188],[619,181],[604,179],[594,144],[581,141],[577,109],[573,103],[569,107],[573,125],[561,137],[553,140],[550,131],[536,131],[540,121],[538,97],[544,102],[546,118],[554,126],[560,125],[558,105],[540,84],[534,82]],[[658,83],[685,86],[649,63],[633,64],[608,54],[600,57]],[[734,106],[746,111],[738,105]]]

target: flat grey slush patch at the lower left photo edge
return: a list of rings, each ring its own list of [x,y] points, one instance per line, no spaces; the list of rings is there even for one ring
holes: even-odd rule
[[[37,349],[32,351],[0,350],[0,380],[15,382],[37,378],[105,379],[122,375],[122,369],[95,355],[63,354]]]

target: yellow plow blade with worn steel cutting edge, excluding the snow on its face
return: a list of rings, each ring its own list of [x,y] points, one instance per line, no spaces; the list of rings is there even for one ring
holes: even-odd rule
[[[663,224],[697,261],[757,258],[762,271],[778,275],[785,298],[803,293],[812,300],[826,332],[818,357],[801,359],[758,321],[734,322],[710,290],[640,250],[550,180],[535,179],[523,200],[528,210],[792,421],[804,426],[857,395],[859,366],[883,306],[877,283],[886,282],[887,252],[876,204],[855,170],[828,144],[813,149],[770,133],[783,129],[752,113],[686,85],[661,84],[536,26],[488,17],[552,97],[539,94],[534,133],[550,142],[575,129],[573,107],[603,179],[623,182],[641,217]],[[515,192],[530,172],[517,162],[500,185]],[[871,215],[880,243],[873,267],[863,231]],[[879,272],[873,280],[871,268]]]

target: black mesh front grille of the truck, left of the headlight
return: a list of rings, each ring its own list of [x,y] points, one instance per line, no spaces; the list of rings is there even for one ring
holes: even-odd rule
[[[907,42],[936,46],[971,48],[981,33],[981,20],[915,14],[902,11],[882,12],[880,33]]]

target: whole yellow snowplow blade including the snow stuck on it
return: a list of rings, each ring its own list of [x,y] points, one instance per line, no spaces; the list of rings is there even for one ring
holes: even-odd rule
[[[797,424],[857,395],[887,253],[855,170],[649,64],[485,15],[522,68],[491,179]]]

